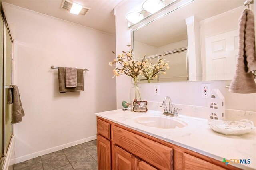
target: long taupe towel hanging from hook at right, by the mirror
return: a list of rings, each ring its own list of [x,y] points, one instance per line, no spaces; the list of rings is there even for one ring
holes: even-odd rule
[[[254,40],[252,41],[251,28],[247,29],[247,24],[251,25],[251,22],[247,23],[248,10],[244,10],[239,19],[239,51],[238,59],[236,62],[236,73],[229,86],[229,91],[233,93],[256,93],[256,84],[252,72],[248,72],[247,59],[251,58],[252,53],[255,55]],[[248,57],[248,56],[249,57]],[[255,56],[254,56],[255,57]],[[250,60],[250,59],[249,59]],[[250,66],[250,68],[252,68]]]

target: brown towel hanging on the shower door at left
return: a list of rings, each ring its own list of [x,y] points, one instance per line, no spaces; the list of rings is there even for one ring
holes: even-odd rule
[[[12,122],[11,123],[19,123],[22,121],[22,117],[25,116],[22,103],[20,100],[20,92],[16,85],[10,85],[10,89],[8,89],[7,94],[7,103],[12,105]]]

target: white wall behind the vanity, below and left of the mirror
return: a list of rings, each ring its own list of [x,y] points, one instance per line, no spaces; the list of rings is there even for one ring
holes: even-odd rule
[[[125,45],[130,44],[130,29],[127,28],[125,15],[137,4],[134,1],[127,1],[116,9],[116,51],[124,51]],[[230,81],[195,81],[195,82],[170,82],[140,84],[143,100],[162,102],[164,96],[169,95],[173,103],[185,105],[206,106],[206,99],[201,98],[201,84],[209,83],[211,88],[218,88],[226,99],[227,109],[238,109],[256,111],[256,93],[236,94],[228,92]],[[154,85],[160,85],[160,95],[155,96]],[[117,108],[122,108],[122,100],[130,101],[131,78],[120,76],[116,79]]]

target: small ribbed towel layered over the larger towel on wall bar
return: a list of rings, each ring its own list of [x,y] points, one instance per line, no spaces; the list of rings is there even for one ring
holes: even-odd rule
[[[65,86],[66,87],[76,87],[77,86],[77,75],[76,68],[65,68]]]

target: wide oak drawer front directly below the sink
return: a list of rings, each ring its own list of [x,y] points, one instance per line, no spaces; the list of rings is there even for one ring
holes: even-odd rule
[[[159,169],[172,169],[172,148],[113,126],[113,142]]]

